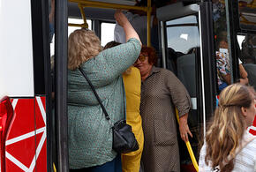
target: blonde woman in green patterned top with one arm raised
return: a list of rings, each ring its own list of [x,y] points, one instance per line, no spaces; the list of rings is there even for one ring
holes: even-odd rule
[[[94,96],[87,77],[108,111],[111,123],[124,117],[122,73],[139,56],[141,43],[121,11],[115,18],[124,27],[127,42],[102,51],[93,31],[79,29],[69,37],[68,56],[68,129],[71,171],[121,172],[121,158],[112,150],[112,130]]]

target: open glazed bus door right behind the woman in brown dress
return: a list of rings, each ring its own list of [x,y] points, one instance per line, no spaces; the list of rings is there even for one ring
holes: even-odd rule
[[[162,67],[173,71],[191,96],[188,123],[193,153],[199,158],[199,143],[206,121],[215,109],[215,58],[211,3],[169,4],[156,12],[160,20]],[[181,164],[191,164],[184,142]]]

